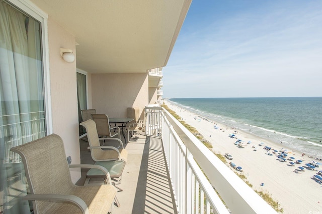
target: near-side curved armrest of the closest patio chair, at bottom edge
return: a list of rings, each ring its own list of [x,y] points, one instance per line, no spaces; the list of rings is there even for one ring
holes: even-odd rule
[[[81,198],[70,195],[70,194],[27,194],[23,197],[23,200],[62,200],[62,201],[69,201],[76,204],[83,213],[89,214],[89,208],[87,207],[84,200]]]

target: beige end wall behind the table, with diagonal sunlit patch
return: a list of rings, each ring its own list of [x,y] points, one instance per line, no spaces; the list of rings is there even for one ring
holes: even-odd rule
[[[148,105],[147,73],[92,74],[92,104],[98,114],[126,117],[128,107]]]

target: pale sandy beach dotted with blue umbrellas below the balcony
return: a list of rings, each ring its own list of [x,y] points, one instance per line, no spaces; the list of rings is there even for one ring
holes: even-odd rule
[[[287,148],[283,143],[275,143],[219,124],[217,121],[208,120],[167,100],[165,104],[211,142],[212,150],[215,153],[222,155],[230,153],[233,159],[226,159],[226,164],[229,165],[229,162],[233,162],[236,166],[243,167],[242,173],[253,185],[252,188],[268,192],[274,200],[278,201],[279,207],[283,208],[283,213],[322,213],[322,184],[311,179],[318,170],[322,170],[322,165],[317,167],[317,170],[308,169],[305,165],[305,163],[314,160],[313,158],[305,154],[302,155],[300,151]],[[214,128],[215,124],[219,127],[218,129]],[[238,147],[234,144],[237,139],[228,137],[234,131],[237,132],[235,134],[237,139],[242,140],[245,146]],[[249,141],[251,141],[250,144],[248,144]],[[274,149],[278,151],[288,149],[288,156],[285,157],[286,162],[280,161],[276,154],[268,155],[268,151],[264,149],[265,146],[272,148],[270,153]],[[294,161],[288,160],[290,157],[294,157]],[[303,162],[301,164],[295,163],[292,166],[290,162],[296,162],[296,160]],[[304,167],[304,171],[300,171],[299,166]],[[232,167],[230,168],[235,171]]]

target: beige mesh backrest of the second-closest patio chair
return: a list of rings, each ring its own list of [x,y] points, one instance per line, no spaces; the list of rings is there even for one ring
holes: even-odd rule
[[[90,146],[100,146],[100,139],[99,135],[97,133],[96,124],[94,120],[87,120],[82,123],[80,123],[82,126],[85,127],[87,132],[87,138],[89,140]],[[105,153],[106,150],[102,149],[91,149],[91,155],[93,160],[97,160],[96,157],[101,157],[103,153]]]

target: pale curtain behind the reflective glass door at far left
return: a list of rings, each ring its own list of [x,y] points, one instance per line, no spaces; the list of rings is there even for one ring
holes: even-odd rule
[[[10,148],[45,136],[40,23],[0,2],[0,205],[30,213],[18,154]]]

